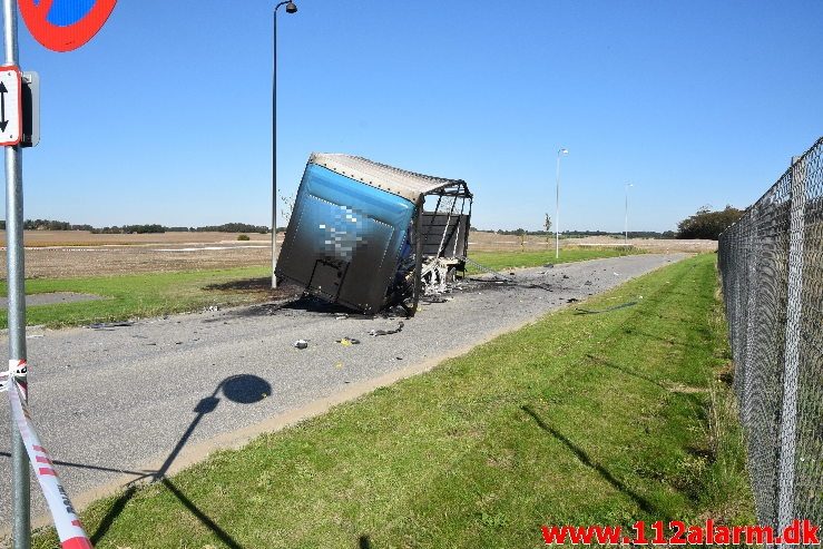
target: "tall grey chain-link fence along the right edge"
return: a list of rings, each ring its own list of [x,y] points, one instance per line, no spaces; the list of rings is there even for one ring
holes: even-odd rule
[[[761,525],[823,523],[823,138],[719,238]]]

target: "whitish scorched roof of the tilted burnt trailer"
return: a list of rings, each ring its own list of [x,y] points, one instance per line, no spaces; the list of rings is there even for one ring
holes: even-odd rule
[[[440,194],[438,192],[449,187],[454,188],[458,196],[471,196],[469,187],[462,179],[447,179],[445,177],[417,174],[375,163],[361,156],[312,153],[308,161],[365,185],[402,196],[410,202],[417,202],[423,195]]]

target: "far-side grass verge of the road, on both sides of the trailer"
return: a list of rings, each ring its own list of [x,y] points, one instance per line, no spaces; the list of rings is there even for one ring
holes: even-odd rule
[[[560,259],[555,259],[553,253],[548,252],[481,252],[472,254],[472,258],[497,269],[617,255],[621,254],[614,248],[595,248],[565,249]],[[29,325],[77,326],[183,313],[207,305],[229,306],[262,302],[274,297],[265,280],[270,273],[271,267],[259,266],[85,278],[31,278],[26,281],[27,294],[75,292],[104,298],[29,306],[26,320]],[[0,284],[0,292],[7,295],[4,282]],[[7,325],[7,311],[3,308],[0,311],[0,329]]]

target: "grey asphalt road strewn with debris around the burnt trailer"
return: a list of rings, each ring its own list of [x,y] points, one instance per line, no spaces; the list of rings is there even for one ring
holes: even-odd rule
[[[684,254],[635,255],[517,272],[521,285],[464,283],[398,320],[339,317],[301,301],[147,320],[131,326],[29,329],[31,406],[74,503],[237,447],[491,336],[619,285]],[[529,284],[548,286],[528,287]],[[550,291],[549,291],[550,290]],[[335,340],[349,336],[356,345]],[[3,336],[3,340],[7,337]],[[308,347],[297,350],[296,340]],[[0,533],[10,510],[10,412],[0,412]],[[159,471],[159,472],[158,472]],[[154,477],[153,477],[154,476]],[[32,517],[48,522],[32,478]],[[91,532],[90,532],[91,533]]]

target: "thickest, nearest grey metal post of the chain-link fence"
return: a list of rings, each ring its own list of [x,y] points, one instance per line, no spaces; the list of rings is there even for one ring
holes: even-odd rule
[[[788,236],[788,292],[786,336],[783,362],[783,413],[780,432],[780,471],[777,479],[777,526],[788,526],[794,517],[795,429],[797,424],[797,370],[800,363],[801,318],[803,315],[803,237],[805,231],[805,158],[792,164],[791,220]]]

